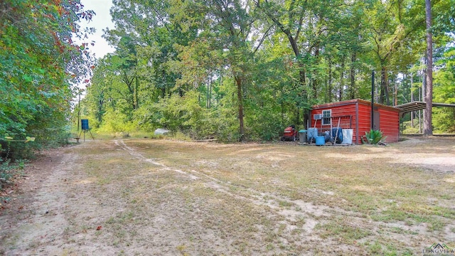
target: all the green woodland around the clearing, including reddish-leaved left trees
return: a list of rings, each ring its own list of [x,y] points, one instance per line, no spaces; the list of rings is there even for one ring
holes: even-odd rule
[[[116,50],[95,60],[80,21],[106,17],[79,0],[1,1],[3,157],[65,141],[79,114],[100,133],[275,139],[312,105],[370,100],[373,73],[375,102],[422,100],[427,32],[434,102],[455,103],[455,0],[432,1],[429,31],[424,0],[114,0],[111,14]],[[433,118],[455,132],[453,109]]]

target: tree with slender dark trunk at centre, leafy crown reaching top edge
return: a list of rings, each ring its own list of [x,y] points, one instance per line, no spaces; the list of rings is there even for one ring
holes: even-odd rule
[[[263,37],[256,42],[250,39],[255,30],[260,31],[254,6],[250,1],[200,0],[188,1],[186,7],[186,15],[181,13],[181,19],[196,21],[201,31],[199,36],[205,38],[199,42],[207,42],[225,57],[225,65],[229,68],[236,87],[239,139],[242,140],[245,136],[245,87],[250,82],[253,55],[263,42]],[[198,13],[193,10],[198,10]]]

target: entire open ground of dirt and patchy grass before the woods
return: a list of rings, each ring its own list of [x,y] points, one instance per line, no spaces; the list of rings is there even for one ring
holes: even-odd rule
[[[87,141],[1,194],[0,255],[422,255],[455,247],[454,189],[453,137]]]

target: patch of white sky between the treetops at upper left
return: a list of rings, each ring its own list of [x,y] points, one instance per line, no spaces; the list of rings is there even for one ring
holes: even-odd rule
[[[92,53],[95,53],[96,58],[102,58],[107,53],[113,53],[114,48],[109,46],[107,41],[102,38],[102,30],[105,28],[113,29],[114,23],[112,23],[112,17],[109,14],[109,9],[112,6],[112,0],[81,0],[81,4],[84,5],[85,10],[95,11],[95,16],[93,16],[92,21],[89,23],[83,21],[80,23],[82,28],[92,27],[96,29],[95,34],[89,35],[89,38],[86,39],[87,43],[95,41],[95,46],[90,46]]]

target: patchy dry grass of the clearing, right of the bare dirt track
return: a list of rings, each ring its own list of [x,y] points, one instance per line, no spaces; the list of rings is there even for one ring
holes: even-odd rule
[[[411,255],[428,240],[454,246],[446,227],[455,219],[455,174],[401,161],[453,157],[453,139],[387,147],[123,142],[74,149],[92,196],[110,207],[98,235],[118,247]]]

